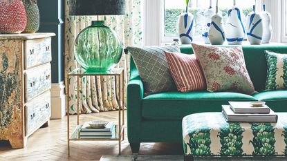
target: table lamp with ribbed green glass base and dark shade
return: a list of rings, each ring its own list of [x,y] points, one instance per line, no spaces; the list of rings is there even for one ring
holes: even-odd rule
[[[125,0],[71,0],[69,15],[124,15]],[[92,21],[75,39],[75,58],[87,71],[107,71],[122,57],[122,42],[104,21]]]

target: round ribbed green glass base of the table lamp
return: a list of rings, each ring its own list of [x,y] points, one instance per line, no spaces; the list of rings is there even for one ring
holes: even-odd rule
[[[104,21],[92,21],[75,39],[75,58],[89,71],[106,71],[122,57],[122,43]]]

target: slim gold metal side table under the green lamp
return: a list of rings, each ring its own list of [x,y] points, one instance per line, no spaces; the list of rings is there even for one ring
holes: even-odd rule
[[[82,84],[80,85],[80,80],[84,76],[114,76],[115,77],[115,82],[119,82],[119,93],[117,97],[118,101],[118,106],[119,106],[119,111],[118,111],[118,135],[115,135],[114,138],[111,139],[81,139],[78,135],[79,130],[81,128],[80,125],[80,114],[79,114],[79,90],[82,88]],[[77,77],[77,127],[70,135],[70,105],[69,105],[69,79],[70,77]],[[122,81],[120,79],[122,78]],[[67,123],[68,123],[68,155],[70,155],[70,141],[92,141],[92,140],[97,140],[97,141],[118,141],[118,149],[119,149],[119,155],[121,153],[121,141],[124,140],[124,69],[123,68],[113,68],[108,71],[103,71],[103,72],[87,72],[83,68],[76,68],[73,70],[71,73],[68,73],[68,81],[67,81],[67,93],[66,93],[66,100],[67,100]],[[115,91],[117,91],[117,87],[115,87]],[[116,93],[116,92],[115,92]],[[122,102],[121,102],[122,100]],[[122,115],[121,115],[122,113]],[[122,117],[121,117],[122,116]],[[122,120],[121,120],[122,118]]]

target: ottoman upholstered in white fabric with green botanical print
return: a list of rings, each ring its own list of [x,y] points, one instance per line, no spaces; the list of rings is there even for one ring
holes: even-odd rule
[[[287,113],[277,123],[226,122],[221,113],[183,118],[185,160],[193,156],[287,156]]]

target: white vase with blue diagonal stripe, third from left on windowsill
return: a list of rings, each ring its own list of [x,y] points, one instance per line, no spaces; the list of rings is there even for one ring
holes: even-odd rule
[[[219,8],[216,5],[216,14],[212,16],[210,30],[208,31],[208,39],[212,45],[222,45],[225,41],[225,28],[223,25],[223,17],[219,15]]]

